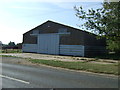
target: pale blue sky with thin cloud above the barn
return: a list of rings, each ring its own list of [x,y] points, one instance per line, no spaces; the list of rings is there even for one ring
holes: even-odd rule
[[[22,43],[23,33],[48,21],[75,28],[84,23],[75,16],[74,6],[100,8],[102,0],[0,0],[0,41]]]

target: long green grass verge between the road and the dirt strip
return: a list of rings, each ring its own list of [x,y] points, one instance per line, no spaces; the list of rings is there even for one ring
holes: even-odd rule
[[[29,59],[32,63],[39,63],[50,65],[54,67],[62,67],[74,70],[85,70],[95,73],[106,73],[118,75],[118,64],[96,64],[89,62],[65,62],[65,61],[55,61],[55,60],[38,60]]]

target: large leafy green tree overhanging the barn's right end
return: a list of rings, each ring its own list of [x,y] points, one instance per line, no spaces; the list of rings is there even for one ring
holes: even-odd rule
[[[91,8],[88,12],[81,6],[74,9],[78,18],[86,20],[82,26],[105,37],[108,49],[120,52],[120,2],[103,2],[102,8]]]

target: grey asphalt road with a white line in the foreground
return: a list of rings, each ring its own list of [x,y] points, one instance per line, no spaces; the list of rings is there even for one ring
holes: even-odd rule
[[[2,88],[118,88],[114,76],[6,62],[0,65]]]

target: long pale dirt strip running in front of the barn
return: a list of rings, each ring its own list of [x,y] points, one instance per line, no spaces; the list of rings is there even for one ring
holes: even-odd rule
[[[112,64],[112,63],[117,63],[118,62],[118,61],[115,61],[115,60],[106,60],[106,59],[97,59],[96,60],[95,58],[46,55],[46,54],[35,54],[35,53],[6,53],[6,54],[2,53],[0,55],[10,55],[10,56],[16,56],[16,57],[22,57],[22,58],[43,59],[43,60],[59,60],[59,61],[74,61],[74,62],[87,61],[87,62],[91,62],[91,63],[100,63],[100,64]],[[24,62],[26,62],[26,60]]]

